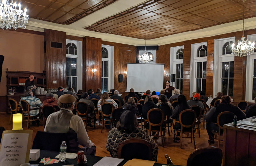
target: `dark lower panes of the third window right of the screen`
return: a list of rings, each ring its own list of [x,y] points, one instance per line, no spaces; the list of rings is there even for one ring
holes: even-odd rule
[[[234,62],[222,62],[221,92],[233,97]]]

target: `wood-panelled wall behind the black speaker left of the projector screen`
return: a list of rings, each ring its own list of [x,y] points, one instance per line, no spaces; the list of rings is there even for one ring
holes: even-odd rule
[[[120,93],[126,91],[127,78],[124,72],[127,71],[126,63],[136,63],[137,47],[127,44],[120,44],[115,42],[102,41],[102,44],[114,46],[114,87]],[[118,82],[118,74],[123,74],[122,92],[121,83]],[[130,91],[130,89],[128,89]]]

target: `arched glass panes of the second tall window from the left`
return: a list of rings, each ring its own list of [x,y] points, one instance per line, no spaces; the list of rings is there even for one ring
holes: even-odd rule
[[[101,92],[108,92],[109,85],[109,61],[108,49],[105,47],[101,48]]]

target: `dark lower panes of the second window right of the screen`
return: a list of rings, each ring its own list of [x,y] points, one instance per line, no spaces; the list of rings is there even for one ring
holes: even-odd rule
[[[204,92],[206,87],[206,62],[196,63],[196,92]]]

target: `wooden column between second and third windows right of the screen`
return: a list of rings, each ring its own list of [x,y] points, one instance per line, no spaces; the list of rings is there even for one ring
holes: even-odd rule
[[[214,59],[214,40],[207,41],[207,61],[206,61],[206,96],[213,96],[213,59]]]

